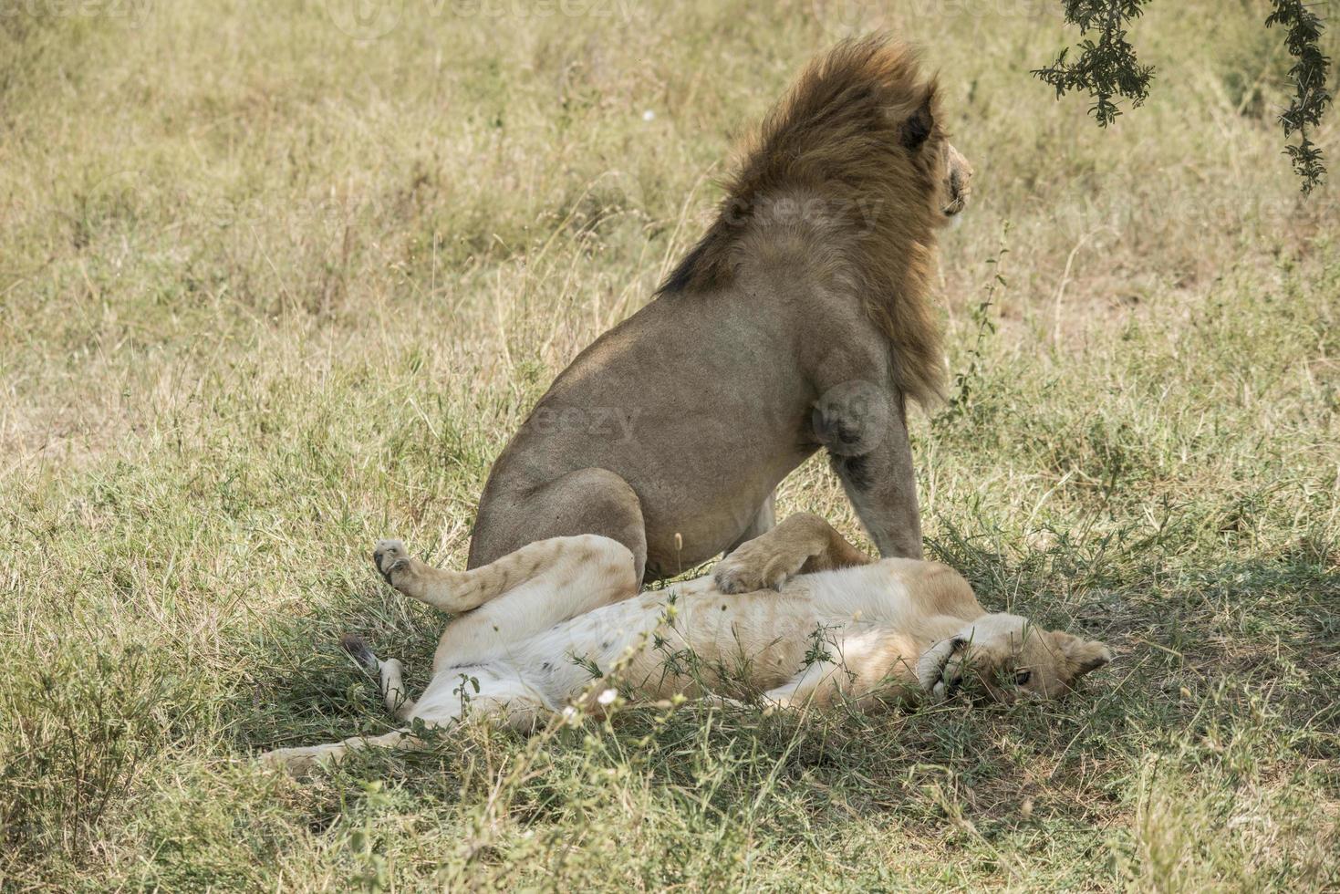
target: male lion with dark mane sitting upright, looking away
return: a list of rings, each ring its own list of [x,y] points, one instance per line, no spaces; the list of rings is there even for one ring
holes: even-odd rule
[[[821,448],[880,555],[921,558],[906,398],[943,387],[927,295],[970,178],[906,48],[870,38],[816,60],[655,300],[497,458],[468,567],[595,533],[638,580],[679,574],[772,528],[773,489]]]

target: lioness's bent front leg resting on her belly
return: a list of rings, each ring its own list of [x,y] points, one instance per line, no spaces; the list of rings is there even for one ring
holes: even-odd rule
[[[874,562],[816,515],[788,517],[717,563],[713,576],[722,592],[780,590],[797,574],[848,568]]]

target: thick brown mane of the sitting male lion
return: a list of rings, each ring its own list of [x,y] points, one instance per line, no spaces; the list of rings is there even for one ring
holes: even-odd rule
[[[937,399],[943,353],[929,291],[943,222],[935,204],[943,143],[935,84],[921,76],[911,51],[884,36],[839,44],[805,70],[745,146],[716,221],[658,295],[729,287],[769,239],[766,209],[787,197],[821,197],[831,213],[808,236],[827,240],[828,251],[816,257],[844,259],[842,281],[888,338],[898,387],[922,403]],[[872,218],[863,217],[868,209]]]

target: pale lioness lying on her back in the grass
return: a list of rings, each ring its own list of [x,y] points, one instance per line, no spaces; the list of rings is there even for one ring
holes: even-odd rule
[[[595,535],[541,540],[464,572],[430,568],[398,540],[379,543],[374,559],[402,594],[481,621],[448,626],[417,702],[405,700],[401,662],[346,639],[379,672],[397,717],[429,725],[470,713],[531,729],[544,712],[607,689],[591,686],[592,665],[615,669],[610,682],[643,697],[761,693],[781,706],[836,697],[874,706],[965,686],[997,701],[1053,698],[1112,658],[1103,643],[988,614],[945,566],[874,562],[812,515],[787,519],[710,576],[641,595],[628,548]],[[453,637],[462,629],[469,641]],[[686,662],[669,658],[689,653],[695,673],[677,672]],[[599,710],[599,700],[590,706]],[[302,772],[350,748],[415,743],[398,730],[265,759]]]

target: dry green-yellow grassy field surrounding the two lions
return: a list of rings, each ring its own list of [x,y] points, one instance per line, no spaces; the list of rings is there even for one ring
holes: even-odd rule
[[[1049,0],[7,3],[0,887],[1340,887],[1340,193],[1280,154],[1266,7],[1154,4],[1104,133],[1026,74]],[[508,434],[854,25],[925,48],[978,170],[927,548],[1118,661],[261,772],[390,729],[336,638],[419,686],[441,619],[370,546],[464,563]],[[858,535],[821,462],[781,496]]]

